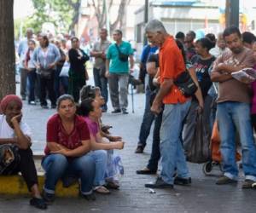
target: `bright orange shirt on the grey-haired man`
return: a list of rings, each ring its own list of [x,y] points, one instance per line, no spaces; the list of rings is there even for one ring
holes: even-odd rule
[[[166,38],[165,43],[160,48],[160,83],[164,79],[176,79],[177,75],[185,71],[185,64],[181,50],[172,36]],[[164,104],[184,103],[187,98],[181,93],[176,85],[172,85],[170,92],[164,97]]]

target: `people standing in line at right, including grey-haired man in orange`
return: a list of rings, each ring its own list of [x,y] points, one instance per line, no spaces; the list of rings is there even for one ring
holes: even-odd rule
[[[143,49],[141,76],[145,81],[146,103],[135,153],[143,153],[153,122],[154,134],[148,165],[137,170],[137,174],[156,174],[160,158],[162,167],[157,179],[145,187],[191,184],[186,152],[189,144],[195,142],[196,118],[201,114],[208,140],[213,124],[218,125],[223,176],[216,184],[238,181],[236,150],[241,150],[245,175],[242,188],[252,188],[256,182],[255,82],[238,80],[232,74],[255,68],[256,37],[230,26],[217,39],[208,33],[195,40],[192,31],[186,35],[178,32],[174,38],[159,20],[149,21],[145,33],[149,44]],[[197,85],[191,97],[177,87],[176,80],[183,72],[189,72]]]

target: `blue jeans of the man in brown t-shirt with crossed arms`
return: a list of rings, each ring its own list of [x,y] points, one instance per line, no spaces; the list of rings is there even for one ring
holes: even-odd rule
[[[242,169],[246,179],[256,181],[256,147],[250,118],[250,105],[226,101],[217,105],[217,121],[221,138],[224,176],[236,180],[236,130],[241,141]]]

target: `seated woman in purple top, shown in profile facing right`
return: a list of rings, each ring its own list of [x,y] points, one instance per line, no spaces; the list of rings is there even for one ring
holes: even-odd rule
[[[92,156],[95,156],[96,159],[96,178],[95,186],[97,193],[109,193],[106,187],[103,187],[105,184],[105,177],[107,171],[108,163],[108,154],[105,150],[113,151],[113,149],[123,149],[123,141],[115,141],[109,143],[108,140],[104,141],[102,138],[98,120],[102,117],[102,108],[98,101],[88,98],[81,102],[79,107],[79,114],[84,116],[89,130],[90,130],[90,147],[92,150]],[[101,155],[99,155],[101,153]],[[113,152],[112,152],[113,153]],[[108,180],[108,179],[107,179]],[[113,180],[108,180],[114,185]],[[108,186],[109,184],[107,184]],[[119,185],[116,183],[114,188],[118,188]]]

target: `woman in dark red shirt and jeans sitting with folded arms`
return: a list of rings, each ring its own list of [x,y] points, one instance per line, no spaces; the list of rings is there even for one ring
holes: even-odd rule
[[[95,177],[94,159],[90,152],[90,131],[84,118],[76,115],[76,105],[71,95],[61,95],[57,112],[47,124],[47,145],[42,166],[46,171],[44,199],[55,199],[55,185],[61,178],[77,176],[80,195],[95,200],[92,192]]]

